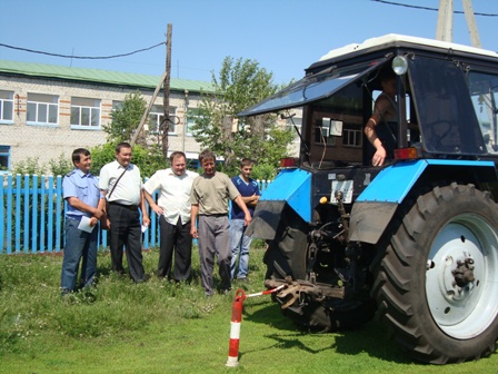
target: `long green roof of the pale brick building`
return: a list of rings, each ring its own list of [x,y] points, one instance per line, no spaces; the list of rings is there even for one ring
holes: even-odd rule
[[[57,65],[18,62],[9,60],[0,60],[0,73],[150,89],[155,89],[161,79],[160,76],[149,76],[133,72],[72,68]],[[171,78],[170,89],[180,91],[189,90],[193,92],[212,92],[212,85],[202,80]]]

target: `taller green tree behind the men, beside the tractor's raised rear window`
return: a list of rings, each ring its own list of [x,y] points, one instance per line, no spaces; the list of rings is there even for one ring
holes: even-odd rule
[[[280,88],[273,75],[256,60],[226,57],[219,77],[211,77],[213,94],[202,95],[192,126],[196,140],[222,156],[228,170],[243,157],[277,167],[287,155],[292,132],[278,127],[275,115],[237,116]]]

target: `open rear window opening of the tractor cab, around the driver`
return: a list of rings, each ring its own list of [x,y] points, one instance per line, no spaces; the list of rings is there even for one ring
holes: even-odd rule
[[[379,70],[389,67],[389,61],[359,77],[326,99],[316,101],[308,108],[310,128],[309,160],[312,167],[369,165],[374,147],[363,135],[365,125],[374,112],[376,99],[381,94]],[[405,79],[404,77],[401,79]],[[407,88],[404,82],[404,87]],[[394,105],[398,107],[398,97]],[[418,121],[411,92],[407,90],[402,105],[406,107],[407,144],[420,141]],[[397,121],[397,118],[395,118]],[[390,130],[397,144],[398,126]]]

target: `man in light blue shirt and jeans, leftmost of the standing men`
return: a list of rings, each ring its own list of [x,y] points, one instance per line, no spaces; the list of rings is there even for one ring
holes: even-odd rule
[[[91,156],[84,148],[72,152],[74,170],[62,180],[63,198],[68,203],[66,209],[66,246],[62,260],[60,287],[62,295],[77,289],[78,269],[81,264],[80,286],[93,284],[97,273],[97,237],[96,225],[102,217],[104,200],[98,186],[98,179],[90,173]],[[89,218],[91,232],[80,228],[82,217]]]

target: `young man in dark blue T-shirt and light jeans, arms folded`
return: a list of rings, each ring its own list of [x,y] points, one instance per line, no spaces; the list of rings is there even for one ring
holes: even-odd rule
[[[258,183],[249,176],[252,171],[252,166],[255,163],[249,158],[243,158],[240,163],[240,175],[231,178],[231,181],[237,187],[242,197],[243,203],[246,203],[249,213],[255,214],[256,204],[259,200],[259,186]],[[230,222],[230,246],[231,246],[231,278],[247,280],[247,273],[249,270],[249,247],[251,246],[251,237],[245,235],[247,226],[243,223],[243,211],[237,206],[237,204],[231,205],[231,222]],[[239,264],[237,266],[237,258],[239,258]]]

